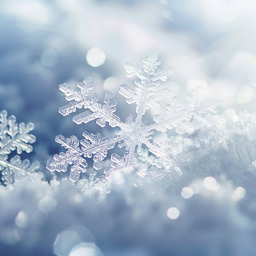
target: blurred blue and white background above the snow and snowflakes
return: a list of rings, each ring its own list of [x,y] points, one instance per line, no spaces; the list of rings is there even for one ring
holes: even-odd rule
[[[203,86],[223,109],[255,111],[255,11],[253,0],[2,0],[0,109],[35,124],[45,166],[57,134],[84,130],[58,114],[58,86],[91,76],[101,95],[118,92],[124,63],[157,51],[173,90]]]

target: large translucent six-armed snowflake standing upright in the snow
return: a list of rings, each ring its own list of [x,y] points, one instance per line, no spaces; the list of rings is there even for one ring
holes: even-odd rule
[[[142,67],[131,63],[124,65],[128,77],[137,77],[134,86],[123,84],[119,89],[119,93],[126,98],[128,104],[136,104],[136,116],[129,115],[125,122],[115,115],[114,93],[106,92],[104,102],[100,104],[98,93],[92,93],[93,84],[90,77],[84,78],[83,83],[77,83],[76,88],[66,83],[61,84],[60,90],[70,102],[59,109],[61,115],[66,116],[76,112],[77,109],[86,109],[73,117],[76,124],[86,124],[96,120],[96,124],[100,127],[104,127],[108,122],[111,127],[118,127],[118,131],[114,138],[104,138],[99,132],[94,134],[84,131],[84,138],[81,141],[74,135],[70,138],[62,135],[56,136],[56,142],[65,147],[67,151],[54,155],[47,162],[47,169],[51,172],[67,172],[70,165],[69,179],[77,182],[80,174],[86,172],[88,166],[86,158],[93,157],[93,168],[100,170],[104,166],[108,150],[114,148],[116,144],[120,148],[125,147],[125,154],[124,156],[111,155],[110,167],[104,170],[105,177],[100,178],[100,182],[104,180],[102,182],[104,184],[108,183],[111,175],[116,172],[124,173],[135,170],[141,177],[145,177],[148,172],[151,172],[153,177],[162,173],[163,171],[159,172],[159,170],[154,172],[154,168],[148,171],[147,164],[140,159],[139,153],[143,148],[147,148],[156,159],[164,161],[163,164],[166,166],[172,166],[173,159],[169,157],[170,154],[164,150],[164,147],[152,142],[154,131],[166,132],[175,129],[178,134],[184,134],[193,132],[198,121],[209,125],[205,114],[215,111],[218,100],[205,99],[202,97],[201,88],[196,88],[189,94],[189,108],[181,108],[180,98],[175,96],[166,106],[167,115],[156,115],[154,122],[149,125],[145,124],[143,119],[147,110],[159,106],[161,100],[170,96],[170,91],[167,88],[161,88],[161,83],[165,82],[171,74],[171,67],[161,69],[160,64],[161,61],[157,60],[157,53],[152,52],[147,59],[143,60]]]

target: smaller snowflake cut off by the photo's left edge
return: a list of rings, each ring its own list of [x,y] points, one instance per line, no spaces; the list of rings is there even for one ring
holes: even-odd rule
[[[16,150],[17,154],[33,150],[30,145],[35,142],[35,136],[29,134],[34,129],[32,123],[17,124],[15,116],[7,117],[5,110],[0,112],[0,171],[2,171],[3,184],[8,186],[15,181],[26,177],[39,168],[37,161],[30,164],[28,159],[22,161],[19,156],[13,156],[10,161],[8,155]]]

